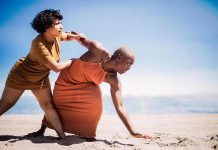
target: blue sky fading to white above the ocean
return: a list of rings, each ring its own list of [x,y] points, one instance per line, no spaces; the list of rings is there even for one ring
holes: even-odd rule
[[[0,91],[37,36],[31,20],[48,8],[61,11],[65,31],[82,32],[111,53],[121,45],[134,50],[132,70],[120,76],[124,95],[218,93],[218,3],[213,0],[1,1]],[[76,42],[63,42],[61,60],[85,51]],[[52,83],[56,77],[51,74]],[[107,85],[102,88],[109,93]]]

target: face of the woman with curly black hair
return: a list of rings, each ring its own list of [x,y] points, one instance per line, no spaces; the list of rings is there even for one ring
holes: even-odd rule
[[[46,32],[49,32],[49,34],[51,34],[52,36],[57,37],[61,34],[62,30],[62,20],[55,19],[53,25],[50,28],[48,28]]]

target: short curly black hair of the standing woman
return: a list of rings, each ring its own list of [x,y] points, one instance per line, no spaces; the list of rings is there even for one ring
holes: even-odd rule
[[[60,10],[45,9],[35,16],[31,23],[31,26],[38,33],[44,33],[46,29],[53,25],[55,19],[63,19]]]

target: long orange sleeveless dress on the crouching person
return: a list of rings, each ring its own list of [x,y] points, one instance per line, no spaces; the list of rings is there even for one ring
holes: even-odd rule
[[[65,132],[83,137],[95,137],[102,113],[99,84],[106,72],[101,63],[76,59],[61,71],[54,86],[54,104]]]

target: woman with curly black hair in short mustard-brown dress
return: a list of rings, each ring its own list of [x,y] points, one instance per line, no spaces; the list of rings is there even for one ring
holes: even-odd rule
[[[15,105],[25,90],[31,90],[60,138],[64,138],[65,134],[52,103],[48,76],[50,70],[59,72],[72,63],[72,60],[59,62],[60,41],[78,41],[82,37],[82,34],[62,32],[62,19],[61,13],[53,9],[43,10],[35,16],[31,24],[39,35],[33,39],[26,57],[12,67],[0,101],[1,116]]]

